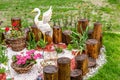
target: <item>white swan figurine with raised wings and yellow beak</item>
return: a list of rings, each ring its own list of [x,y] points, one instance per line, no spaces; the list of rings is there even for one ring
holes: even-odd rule
[[[52,38],[53,29],[48,24],[48,22],[50,21],[51,16],[52,16],[52,7],[50,6],[49,10],[43,13],[42,21],[38,20],[40,13],[41,13],[39,8],[35,8],[32,12],[38,13],[34,18],[34,23],[37,26],[37,28],[40,29],[40,31],[43,33],[43,35],[45,35],[45,32],[49,31],[50,36]]]

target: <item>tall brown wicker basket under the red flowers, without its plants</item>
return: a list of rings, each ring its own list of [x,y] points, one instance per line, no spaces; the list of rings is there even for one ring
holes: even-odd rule
[[[13,51],[21,51],[26,47],[26,37],[6,39]]]

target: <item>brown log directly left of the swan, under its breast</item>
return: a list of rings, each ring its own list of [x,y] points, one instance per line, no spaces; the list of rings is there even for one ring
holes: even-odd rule
[[[32,32],[34,33],[35,40],[39,41],[42,38],[42,32],[37,28],[36,25],[33,25],[31,28]]]

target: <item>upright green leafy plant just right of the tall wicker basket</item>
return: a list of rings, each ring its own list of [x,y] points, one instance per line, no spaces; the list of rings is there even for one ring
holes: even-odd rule
[[[27,42],[27,49],[35,49],[37,47],[37,43],[35,41],[35,35],[32,32],[29,32],[29,41]]]

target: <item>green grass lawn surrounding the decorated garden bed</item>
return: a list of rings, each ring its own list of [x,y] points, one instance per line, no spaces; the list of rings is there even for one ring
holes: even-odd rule
[[[91,23],[90,27],[93,26],[95,21],[100,21],[103,24],[103,30],[108,31],[103,32],[103,44],[106,47],[105,54],[107,56],[107,63],[89,80],[119,80],[120,34],[109,32],[120,31],[120,17],[118,17],[120,16],[120,2],[119,0],[96,0],[98,1],[97,3],[94,2],[95,0],[91,1],[92,0],[86,0],[86,2],[81,0],[0,0],[0,21],[3,21],[1,27],[9,26],[11,24],[11,17],[21,17],[23,27],[30,26],[33,24],[35,16],[35,14],[30,12],[35,7],[38,7],[43,13],[50,5],[53,7],[51,22],[57,24],[59,19],[69,19],[71,16],[74,17],[74,23],[77,22],[76,17],[82,18],[84,16],[89,18]],[[81,10],[82,12],[79,16],[79,11]]]

